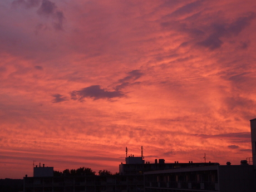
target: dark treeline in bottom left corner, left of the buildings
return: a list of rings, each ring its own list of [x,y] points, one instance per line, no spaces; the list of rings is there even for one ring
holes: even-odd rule
[[[1,192],[23,191],[23,179],[0,179]]]

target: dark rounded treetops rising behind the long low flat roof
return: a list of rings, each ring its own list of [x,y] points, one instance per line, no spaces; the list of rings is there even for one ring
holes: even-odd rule
[[[99,170],[99,175],[117,175],[119,173],[111,173],[110,171],[104,169],[104,170]],[[65,169],[62,172],[61,171],[54,171],[53,173],[54,176],[68,176],[68,175],[96,175],[95,171],[92,171],[91,168],[78,168],[78,169]]]

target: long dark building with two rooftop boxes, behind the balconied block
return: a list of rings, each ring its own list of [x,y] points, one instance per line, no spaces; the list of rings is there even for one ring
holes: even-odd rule
[[[142,157],[126,157],[127,164],[119,166],[119,175],[65,175],[53,176],[53,167],[34,168],[33,177],[24,178],[24,192],[52,191],[144,191],[144,172],[186,168],[188,166],[210,166],[218,163],[175,163],[165,164],[164,159],[154,164],[144,163]]]

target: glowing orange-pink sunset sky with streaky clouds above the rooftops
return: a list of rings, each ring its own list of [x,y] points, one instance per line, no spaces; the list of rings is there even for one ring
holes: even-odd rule
[[[128,154],[240,164],[255,0],[1,0],[0,179],[119,171]]]

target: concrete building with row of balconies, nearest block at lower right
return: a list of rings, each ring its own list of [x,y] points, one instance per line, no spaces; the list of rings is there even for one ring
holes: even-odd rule
[[[253,165],[212,165],[144,173],[145,191],[256,191]]]

